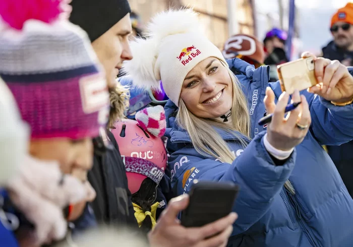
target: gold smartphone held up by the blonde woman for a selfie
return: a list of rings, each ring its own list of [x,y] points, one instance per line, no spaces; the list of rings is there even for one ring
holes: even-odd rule
[[[292,94],[295,89],[302,91],[318,84],[315,76],[314,58],[301,58],[277,66],[282,92]]]

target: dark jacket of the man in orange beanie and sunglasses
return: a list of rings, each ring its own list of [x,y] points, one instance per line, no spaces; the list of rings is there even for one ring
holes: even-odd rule
[[[350,59],[350,66],[353,66],[353,52],[338,48],[333,41],[322,48],[322,52],[323,57],[331,60],[342,61]],[[344,143],[341,146],[327,146],[327,150],[350,196],[353,198],[353,141]]]

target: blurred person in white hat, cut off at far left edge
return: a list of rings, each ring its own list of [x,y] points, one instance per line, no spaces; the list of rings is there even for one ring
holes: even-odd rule
[[[29,156],[30,129],[1,78],[0,127],[1,244],[37,246],[61,240],[68,228],[63,209],[84,201],[87,189],[72,175],[63,175],[57,163]]]

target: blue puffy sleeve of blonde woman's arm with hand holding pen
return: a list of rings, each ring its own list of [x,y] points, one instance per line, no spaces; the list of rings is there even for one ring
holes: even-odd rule
[[[283,165],[275,166],[264,147],[264,134],[256,136],[232,164],[195,156],[198,154],[192,147],[174,152],[171,163],[184,161],[178,163],[182,166],[172,178],[173,191],[178,195],[188,193],[193,179],[239,184],[241,191],[233,206],[239,218],[234,224],[233,234],[246,231],[267,212],[295,165],[296,151],[293,151]]]

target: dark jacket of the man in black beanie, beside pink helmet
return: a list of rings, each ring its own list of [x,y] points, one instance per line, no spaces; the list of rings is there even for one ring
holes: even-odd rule
[[[125,165],[114,136],[109,131],[107,136],[114,147],[107,148],[104,155],[95,154],[88,173],[97,193],[92,208],[98,223],[137,227]]]

